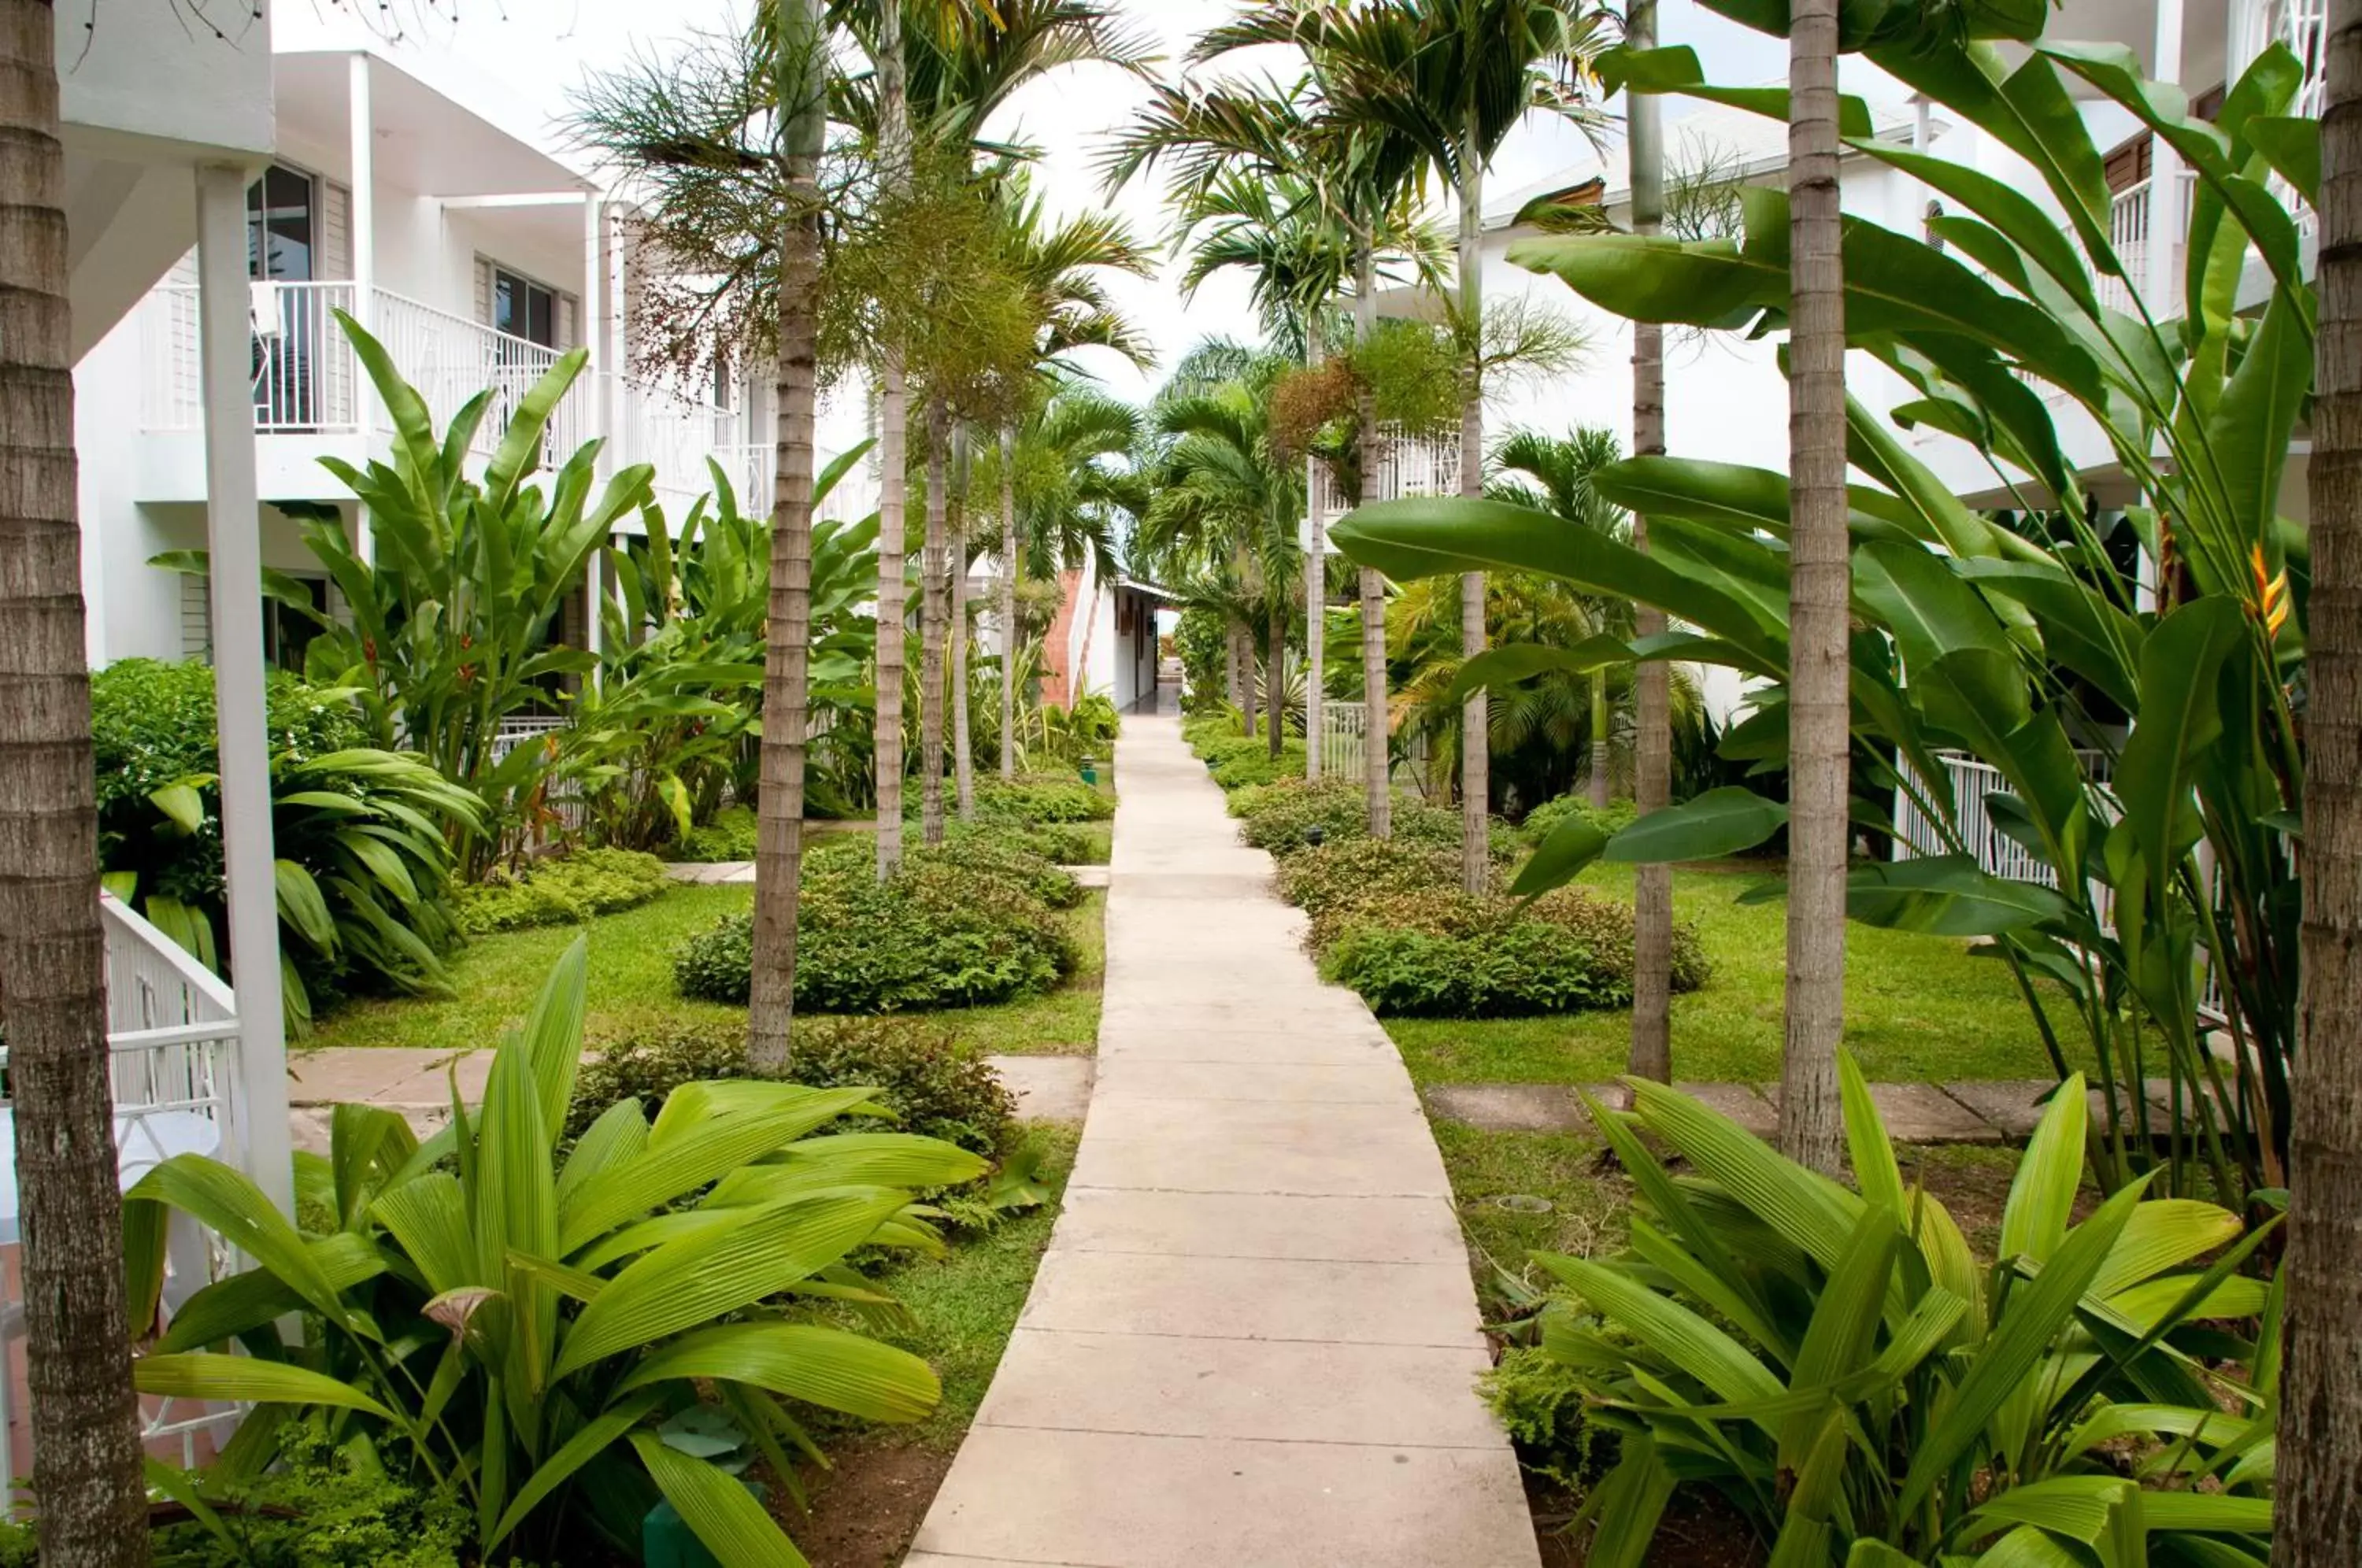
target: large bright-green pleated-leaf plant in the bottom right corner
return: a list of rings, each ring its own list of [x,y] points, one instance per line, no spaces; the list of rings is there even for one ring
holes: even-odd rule
[[[2279,1299],[2242,1266],[2265,1230],[2147,1197],[2147,1176],[2076,1223],[2069,1077],[1986,1275],[1904,1185],[1852,1058],[1840,1082],[1852,1188],[1663,1084],[1632,1079],[1630,1112],[1592,1103],[1639,1193],[1630,1249],[1538,1259],[1564,1292],[1542,1348],[1618,1438],[1590,1563],[1637,1568],[1684,1485],[1774,1563],[2260,1563]]]

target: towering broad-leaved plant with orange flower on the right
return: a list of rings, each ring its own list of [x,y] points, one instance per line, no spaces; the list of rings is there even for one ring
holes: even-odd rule
[[[2015,59],[1977,40],[1847,47],[1979,125],[2041,177],[2060,231],[2020,189],[1878,144],[1859,104],[1857,151],[1944,194],[1946,250],[1847,217],[1845,328],[1916,392],[1892,420],[1972,444],[2055,524],[1979,515],[1951,496],[1887,418],[1849,404],[1852,723],[1897,758],[1873,782],[1901,791],[1949,855],[1857,867],[1852,919],[1989,935],[2012,966],[2060,1074],[2095,1065],[2107,1115],[2095,1169],[2121,1188],[2161,1145],[2168,1185],[2199,1171],[2218,1193],[2282,1183],[2296,1053],[2296,810],[2303,744],[2305,548],[2277,512],[2279,477],[2310,394],[2315,290],[2296,220],[2272,191],[2312,198],[2319,128],[2289,116],[2303,66],[2282,47],[2232,85],[2213,120],[2178,87],[2142,80],[2114,45],[2043,43]],[[1686,50],[1611,57],[1635,90],[1715,94]],[[2100,156],[2069,83],[2114,99],[2173,142],[2194,172],[2182,319],[2107,302],[2126,276],[2107,227]],[[1748,99],[1753,102],[1753,99]],[[2034,106],[2034,109],[2029,109]],[[2036,113],[2038,109],[2038,113]],[[2038,120],[2038,125],[2034,123]],[[1788,300],[1788,203],[1746,194],[1738,239],[1526,241],[1512,257],[1644,321],[1776,319]],[[2242,295],[2242,288],[2249,295]],[[2242,305],[2260,295],[2260,307]],[[2048,390],[2036,390],[2038,383]],[[2114,569],[2060,442],[2090,418],[2140,491],[2126,522],[2164,562],[2159,595]],[[1365,508],[1339,543],[1398,576],[1469,560],[1552,571],[1592,593],[1656,605],[1682,631],[1635,642],[1651,659],[1727,664],[1767,685],[1727,753],[1788,753],[1786,475],[1696,458],[1635,458],[1599,475],[1646,512],[1649,553],[1575,536],[1521,508],[1405,501]],[[2114,723],[2128,716],[2126,723]],[[2050,867],[2055,888],[1979,871],[1942,753],[1998,770],[1991,819]],[[1710,791],[1660,822],[1670,855],[1727,852],[1783,822],[1743,789]],[[1547,843],[1547,883],[1606,852],[1656,860],[1578,829]],[[2201,1046],[2211,975],[2230,1060]],[[2168,1077],[2164,1105],[2145,1079]]]

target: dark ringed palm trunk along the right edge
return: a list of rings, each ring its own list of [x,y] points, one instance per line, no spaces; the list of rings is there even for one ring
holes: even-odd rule
[[[2312,413],[2301,1093],[2272,1568],[2362,1542],[2362,5],[2331,0]],[[19,1133],[21,1136],[21,1133]]]

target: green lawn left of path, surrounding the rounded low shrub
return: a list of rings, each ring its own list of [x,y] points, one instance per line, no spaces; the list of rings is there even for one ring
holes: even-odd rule
[[[673,989],[673,949],[725,914],[746,909],[753,888],[671,888],[654,902],[600,916],[590,933],[590,999],[583,1039],[593,1048],[685,1020],[744,1020],[744,1008],[687,1001]],[[1098,1041],[1098,994],[1105,975],[1105,890],[1068,912],[1082,963],[1046,997],[933,1018],[987,1053],[1089,1056]],[[328,1015],[309,1046],[423,1046],[463,1051],[494,1046],[522,1023],[541,980],[574,940],[574,926],[475,937],[451,959],[451,997],[357,1001]]]

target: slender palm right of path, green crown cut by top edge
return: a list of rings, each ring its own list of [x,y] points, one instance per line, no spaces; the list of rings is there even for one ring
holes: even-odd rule
[[[1358,26],[1335,28],[1325,59],[1330,97],[1349,118],[1379,125],[1420,149],[1450,179],[1460,208],[1457,309],[1464,368],[1460,397],[1460,494],[1483,494],[1483,175],[1507,135],[1535,111],[1597,125],[1580,92],[1606,12],[1578,0],[1384,0]],[[1391,17],[1386,17],[1391,12]],[[1266,5],[1238,31],[1294,35],[1297,5]],[[1460,652],[1486,647],[1483,574],[1460,579]],[[1490,782],[1486,694],[1460,716],[1460,874],[1469,893],[1490,881]]]

